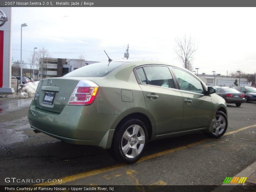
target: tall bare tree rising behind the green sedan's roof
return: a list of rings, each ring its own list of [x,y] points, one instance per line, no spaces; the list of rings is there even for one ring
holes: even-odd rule
[[[180,60],[182,60],[183,67],[192,71],[192,54],[197,50],[195,42],[190,36],[187,38],[186,35],[183,38],[177,37],[175,41],[177,44],[176,53],[179,56]]]

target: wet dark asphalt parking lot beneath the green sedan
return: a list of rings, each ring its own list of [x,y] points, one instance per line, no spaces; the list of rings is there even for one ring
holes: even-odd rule
[[[140,161],[128,165],[107,150],[34,133],[27,118],[30,101],[0,98],[0,185],[220,185],[256,161],[255,102],[228,105],[228,131],[219,139],[198,132],[152,141]]]

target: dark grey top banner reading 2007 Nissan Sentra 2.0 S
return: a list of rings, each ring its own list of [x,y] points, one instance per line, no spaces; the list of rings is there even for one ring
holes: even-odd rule
[[[255,7],[252,0],[1,0],[8,7]]]

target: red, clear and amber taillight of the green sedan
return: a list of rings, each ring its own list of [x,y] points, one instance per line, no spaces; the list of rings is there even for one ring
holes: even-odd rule
[[[68,105],[90,105],[98,90],[99,87],[94,82],[80,81],[71,95]]]

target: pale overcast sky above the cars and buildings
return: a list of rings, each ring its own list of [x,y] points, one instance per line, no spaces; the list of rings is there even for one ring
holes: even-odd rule
[[[175,38],[191,36],[198,47],[192,64],[198,74],[256,72],[256,8],[18,8],[12,9],[12,57],[23,60],[34,47],[53,58],[106,61],[159,60],[182,66]]]

